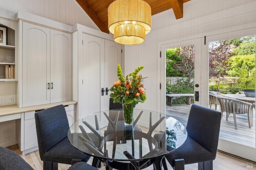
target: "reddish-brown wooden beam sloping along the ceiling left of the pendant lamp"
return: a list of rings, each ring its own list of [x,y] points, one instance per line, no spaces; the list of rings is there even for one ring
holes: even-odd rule
[[[76,0],[78,4],[83,8],[83,10],[90,16],[92,21],[100,28],[102,32],[109,34],[108,26],[104,25],[100,18],[94,13],[90,6],[86,3],[85,0]]]

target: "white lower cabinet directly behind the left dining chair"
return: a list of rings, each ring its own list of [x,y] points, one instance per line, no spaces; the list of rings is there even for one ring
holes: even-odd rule
[[[65,106],[66,114],[68,117],[68,124],[71,126],[74,123],[75,106]],[[23,113],[21,116],[21,143],[20,150],[23,154],[38,150],[38,141],[36,134],[35,113],[37,111],[30,111]]]

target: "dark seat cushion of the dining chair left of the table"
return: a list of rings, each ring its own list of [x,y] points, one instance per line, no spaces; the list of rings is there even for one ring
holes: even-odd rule
[[[58,144],[51,148],[42,157],[43,161],[58,162],[63,164],[71,164],[73,158],[82,159],[87,162],[90,158],[89,155],[84,154],[80,150],[74,148],[68,140],[68,137],[62,139]]]

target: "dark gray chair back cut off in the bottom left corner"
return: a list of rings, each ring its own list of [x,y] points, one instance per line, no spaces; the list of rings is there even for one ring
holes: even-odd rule
[[[0,169],[1,170],[34,170],[16,152],[0,146]]]

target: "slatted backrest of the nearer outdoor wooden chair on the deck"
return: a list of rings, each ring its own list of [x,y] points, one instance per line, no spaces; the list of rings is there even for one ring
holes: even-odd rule
[[[245,114],[249,113],[252,107],[252,103],[231,99],[228,97],[218,97],[220,103],[220,112]]]

